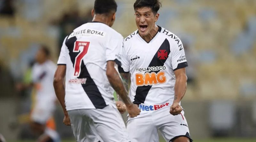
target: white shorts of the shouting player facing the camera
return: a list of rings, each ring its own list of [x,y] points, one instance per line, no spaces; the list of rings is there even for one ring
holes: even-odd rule
[[[134,118],[128,118],[127,131],[132,142],[159,142],[159,130],[166,142],[172,142],[178,137],[188,137],[188,123],[182,115],[170,114],[170,107],[166,106],[148,113],[141,113]]]

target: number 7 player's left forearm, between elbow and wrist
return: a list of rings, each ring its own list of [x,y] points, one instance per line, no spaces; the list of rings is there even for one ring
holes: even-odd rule
[[[64,88],[63,80],[62,79],[57,80],[54,78],[53,86],[54,86],[55,94],[58,100],[60,101],[60,105],[63,109],[64,114],[68,115],[68,112],[66,110],[66,105],[65,105],[65,88]]]

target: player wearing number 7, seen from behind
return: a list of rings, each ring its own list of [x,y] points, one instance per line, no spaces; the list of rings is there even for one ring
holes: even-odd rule
[[[111,28],[116,9],[115,0],[96,0],[92,22],[76,28],[63,41],[53,84],[64,111],[63,123],[69,125],[71,120],[78,142],[130,141],[114,90],[130,117],[140,113],[117,72],[123,37]]]

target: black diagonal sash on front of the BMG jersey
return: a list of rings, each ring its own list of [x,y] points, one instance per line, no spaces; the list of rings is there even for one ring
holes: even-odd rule
[[[167,57],[166,59],[158,59],[158,51],[159,50],[166,50],[167,51]],[[156,54],[154,55],[153,59],[151,60],[150,64],[148,67],[156,67],[156,66],[163,66],[165,61],[167,60],[169,54],[170,54],[170,43],[167,39],[164,40],[164,42],[162,43],[162,45],[160,46],[160,48],[156,51]],[[150,71],[151,72],[155,72],[158,73],[159,71]],[[136,95],[134,96],[134,104],[141,104],[144,103],[147,95],[148,95],[148,91],[150,90],[150,88],[152,87],[152,85],[148,85],[148,86],[138,86],[136,89]]]

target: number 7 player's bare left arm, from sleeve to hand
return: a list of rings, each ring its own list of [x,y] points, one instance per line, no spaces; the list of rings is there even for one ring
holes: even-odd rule
[[[65,88],[64,88],[64,78],[66,75],[66,65],[58,65],[54,74],[53,86],[55,90],[55,94],[60,101],[60,105],[64,112],[64,120],[63,123],[65,125],[70,125],[70,120],[68,117],[68,112],[66,110],[65,105]]]

